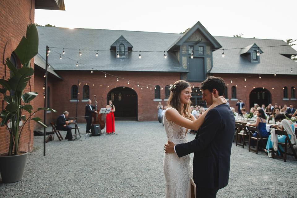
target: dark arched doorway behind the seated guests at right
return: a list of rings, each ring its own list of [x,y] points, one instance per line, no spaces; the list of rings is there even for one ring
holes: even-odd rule
[[[257,103],[259,106],[265,104],[267,106],[271,103],[271,93],[267,89],[255,88],[250,93],[250,108]]]

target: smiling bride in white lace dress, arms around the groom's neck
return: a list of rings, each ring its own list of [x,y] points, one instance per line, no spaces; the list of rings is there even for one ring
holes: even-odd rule
[[[186,143],[189,129],[197,131],[204,117],[210,109],[217,105],[227,103],[224,97],[214,98],[213,104],[199,118],[189,112],[192,86],[184,80],[176,81],[170,85],[168,108],[164,114],[164,126],[168,141],[174,144]],[[178,157],[176,153],[165,153],[163,170],[166,180],[166,198],[191,198],[191,179],[193,168],[190,156]]]

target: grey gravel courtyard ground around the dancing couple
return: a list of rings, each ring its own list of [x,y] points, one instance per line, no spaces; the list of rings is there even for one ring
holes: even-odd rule
[[[80,127],[85,131],[84,124]],[[43,137],[34,137],[24,179],[0,182],[0,197],[164,197],[164,127],[118,121],[116,132],[88,138],[83,132],[82,141],[55,138],[46,144],[45,157]],[[217,197],[295,197],[296,165],[291,156],[284,162],[233,144],[229,184]]]

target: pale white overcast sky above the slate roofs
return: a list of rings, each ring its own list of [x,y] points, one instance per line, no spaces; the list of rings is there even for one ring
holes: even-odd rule
[[[64,0],[66,11],[35,10],[56,27],[179,33],[200,21],[214,36],[297,39],[296,0]],[[297,42],[295,42],[297,44]],[[294,46],[297,49],[297,45]]]

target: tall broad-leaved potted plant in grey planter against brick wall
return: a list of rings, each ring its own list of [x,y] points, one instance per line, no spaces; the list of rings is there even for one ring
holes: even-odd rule
[[[30,60],[38,53],[38,32],[35,24],[28,24],[26,37],[22,38],[14,52],[22,67],[20,69],[15,68],[7,58],[6,65],[11,71],[11,76],[8,80],[0,79],[2,85],[0,93],[4,95],[4,100],[7,102],[0,115],[2,118],[0,124],[2,127],[6,126],[10,133],[8,153],[0,154],[0,172],[3,183],[17,182],[23,178],[28,152],[19,151],[19,140],[25,124],[34,120],[46,128],[40,118],[31,118],[32,115],[40,110],[56,112],[49,108],[38,108],[37,111],[32,112],[33,107],[29,102],[38,93],[23,93],[28,81],[34,74],[33,68],[30,67]],[[29,113],[28,118],[24,115],[25,111]],[[20,126],[20,122],[24,123]]]

